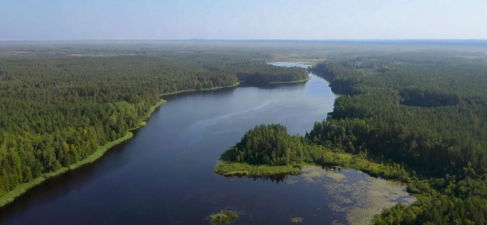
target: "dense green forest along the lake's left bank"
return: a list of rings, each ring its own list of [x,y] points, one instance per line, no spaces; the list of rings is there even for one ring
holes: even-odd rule
[[[98,47],[0,45],[0,196],[125,136],[161,94],[308,77],[255,53]]]

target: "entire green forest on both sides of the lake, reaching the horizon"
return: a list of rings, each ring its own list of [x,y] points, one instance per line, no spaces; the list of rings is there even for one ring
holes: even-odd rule
[[[234,162],[343,165],[351,153],[418,199],[375,224],[487,224],[486,53],[478,41],[0,41],[0,196],[122,138],[162,94],[307,79],[266,64],[292,60],[342,94],[333,112],[304,136],[256,126]]]

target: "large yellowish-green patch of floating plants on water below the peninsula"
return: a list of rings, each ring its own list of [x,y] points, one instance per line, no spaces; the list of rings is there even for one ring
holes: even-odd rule
[[[304,181],[309,185],[323,186],[331,198],[328,208],[345,215],[344,221],[334,221],[334,224],[370,224],[373,215],[380,214],[385,207],[397,203],[410,205],[416,200],[412,195],[405,195],[404,184],[370,176],[352,176],[357,173],[351,173],[351,169],[305,165],[301,171],[302,179],[293,183]]]

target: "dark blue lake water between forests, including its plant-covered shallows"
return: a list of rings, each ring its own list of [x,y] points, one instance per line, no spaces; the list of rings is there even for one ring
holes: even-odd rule
[[[411,203],[404,185],[353,169],[309,166],[298,176],[254,179],[213,173],[220,154],[256,124],[304,134],[323,120],[336,96],[310,76],[164,96],[133,139],[32,188],[1,209],[0,224],[209,224],[226,208],[242,212],[235,224],[362,224],[382,207]]]

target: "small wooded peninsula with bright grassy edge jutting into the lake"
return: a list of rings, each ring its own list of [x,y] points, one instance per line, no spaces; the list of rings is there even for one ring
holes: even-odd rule
[[[352,155],[337,152],[309,143],[299,135],[287,134],[281,124],[255,126],[244,134],[241,141],[227,149],[220,156],[220,163],[215,168],[223,176],[267,176],[275,174],[301,174],[303,165],[322,165],[327,167],[352,168],[387,179],[409,181],[409,173],[402,165],[372,162],[366,153]],[[310,171],[306,176],[310,181],[317,171]],[[343,176],[332,173],[335,179]]]

